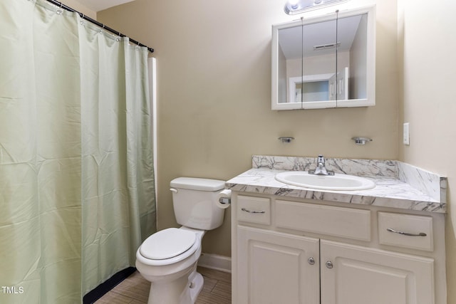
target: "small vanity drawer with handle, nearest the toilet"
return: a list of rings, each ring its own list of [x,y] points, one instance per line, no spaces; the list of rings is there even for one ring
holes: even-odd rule
[[[250,223],[271,224],[271,200],[264,197],[238,195],[237,219]]]

